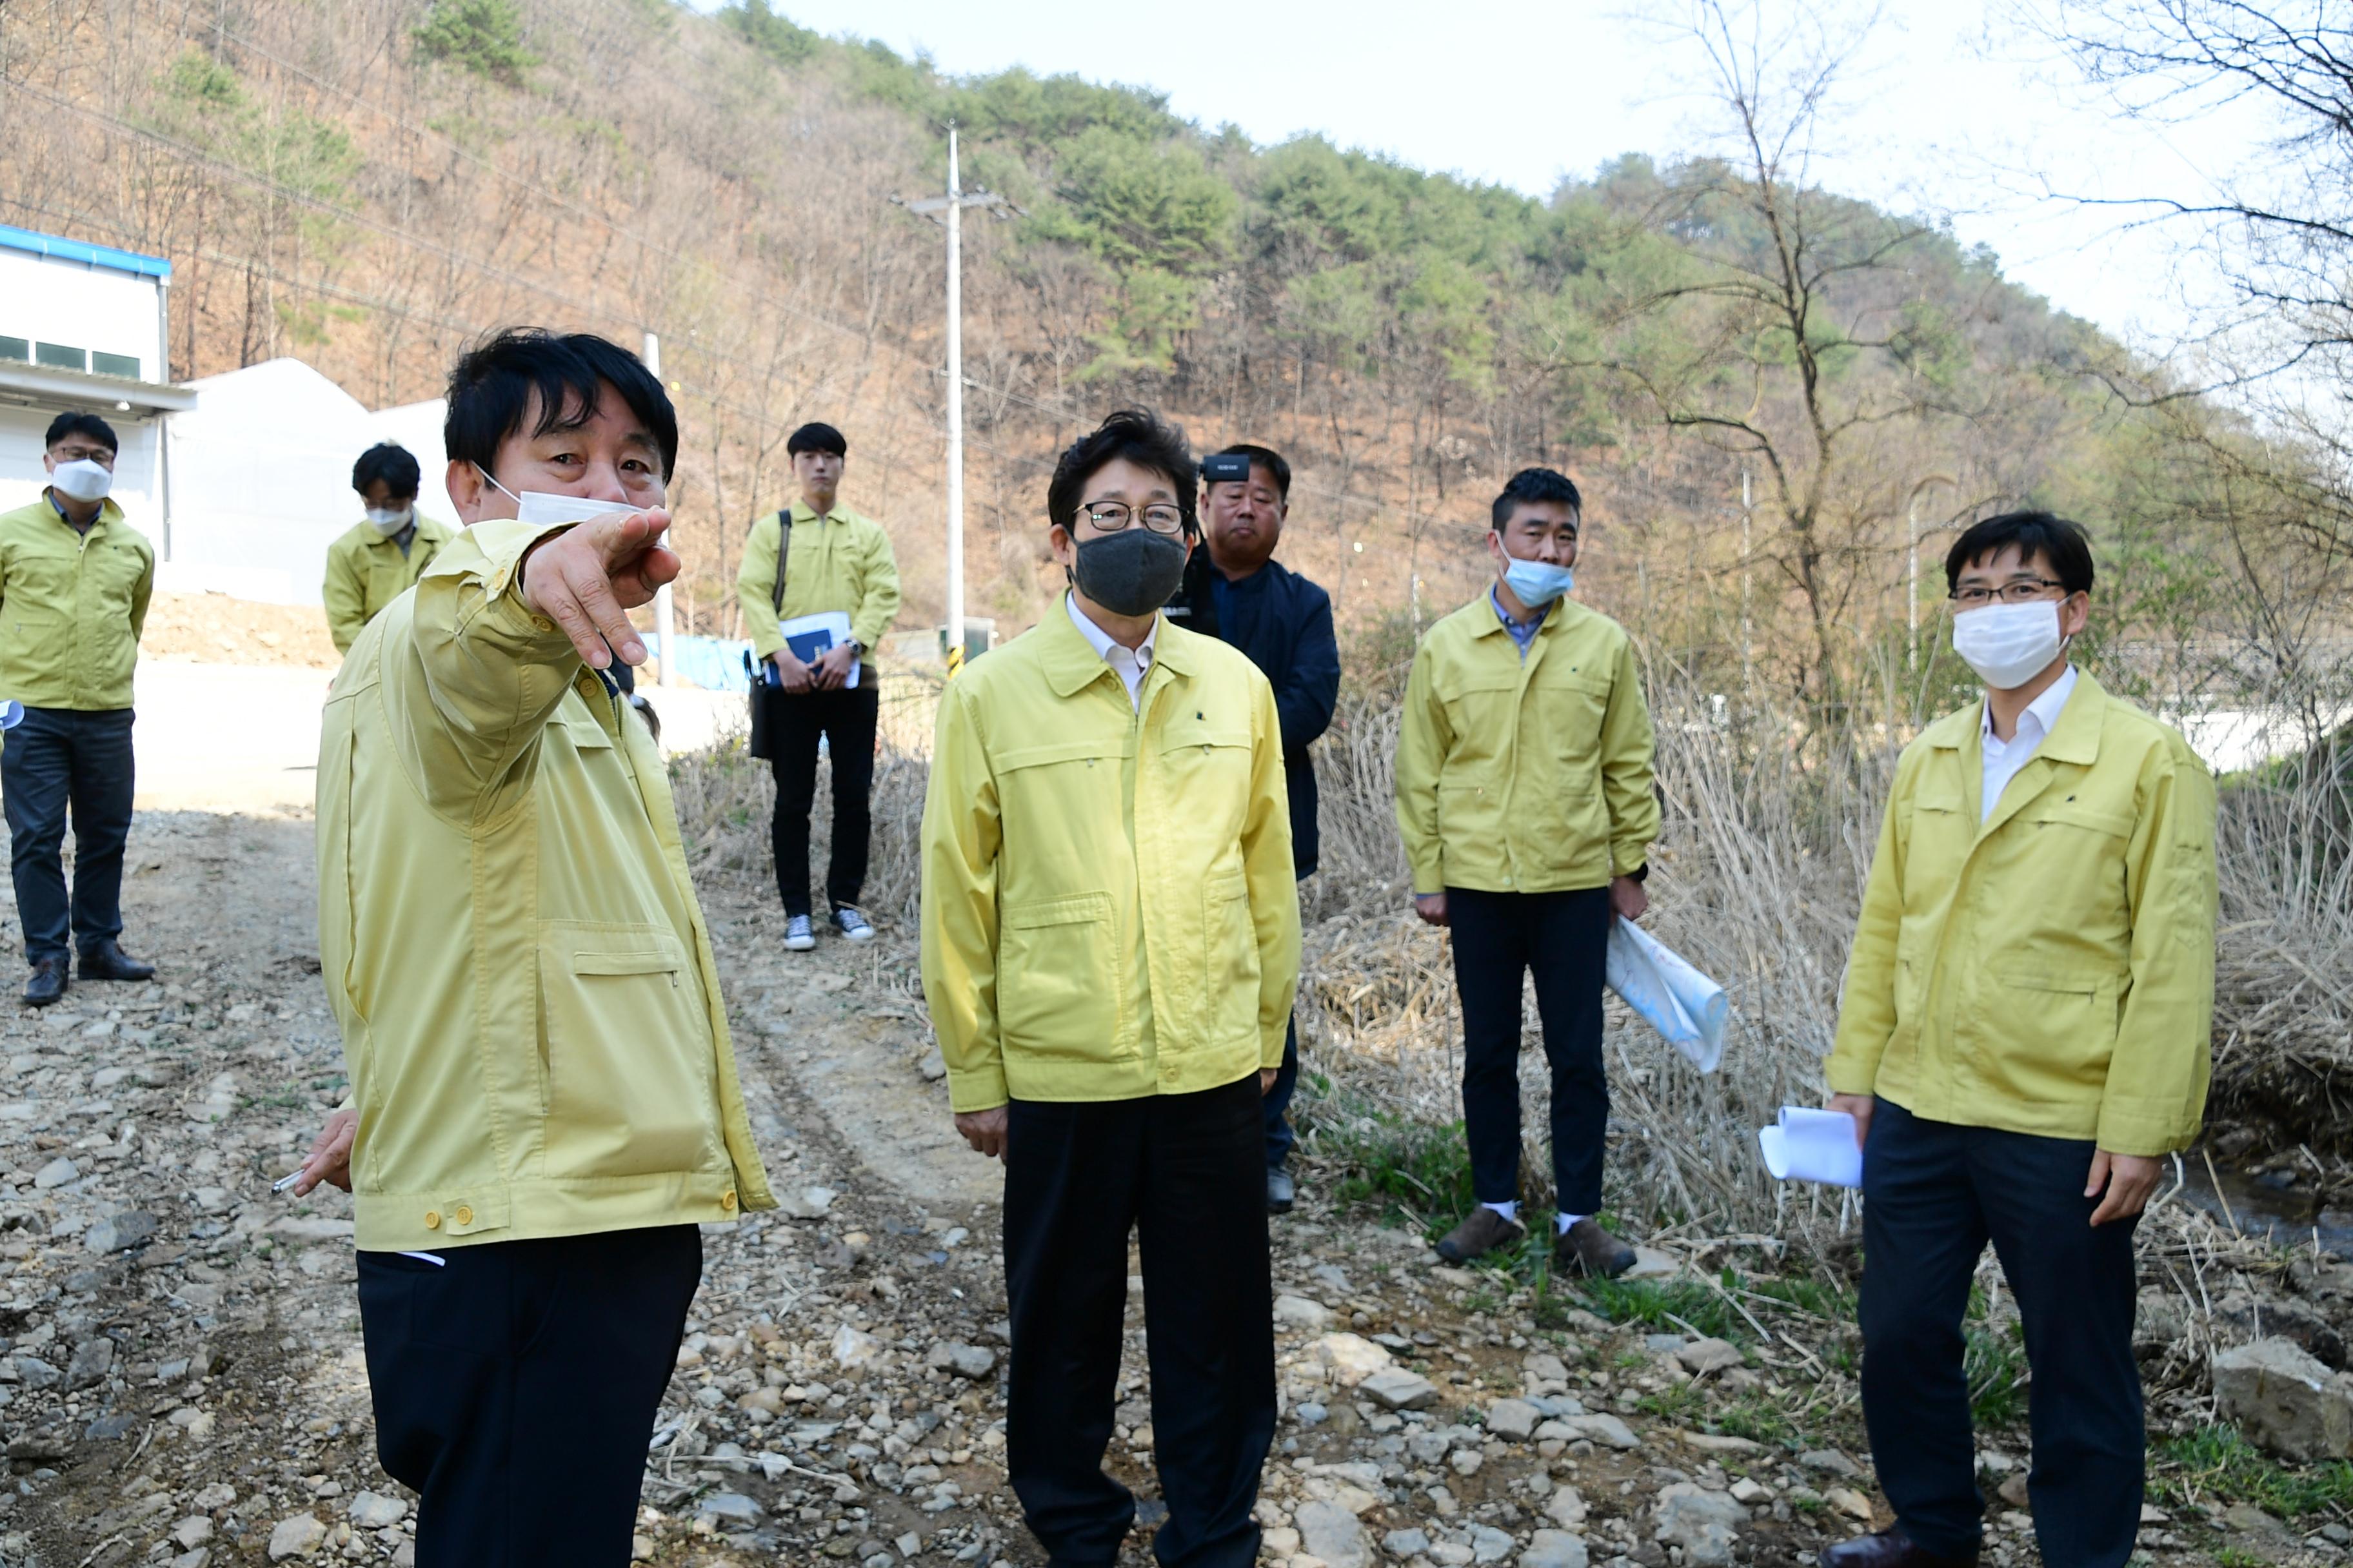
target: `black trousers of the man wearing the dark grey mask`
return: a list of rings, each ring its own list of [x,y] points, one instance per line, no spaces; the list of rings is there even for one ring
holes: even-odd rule
[[[1188,1095],[1012,1103],[1007,1472],[1056,1563],[1111,1563],[1136,1516],[1104,1474],[1129,1229],[1144,1251],[1153,1455],[1169,1509],[1153,1552],[1167,1568],[1252,1568],[1249,1509],[1275,1436],[1257,1072]]]

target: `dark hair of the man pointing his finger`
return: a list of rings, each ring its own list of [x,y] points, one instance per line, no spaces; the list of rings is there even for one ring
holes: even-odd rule
[[[442,447],[452,463],[492,470],[499,444],[522,430],[539,393],[534,437],[579,430],[595,418],[598,386],[612,383],[628,411],[645,421],[661,447],[661,477],[678,465],[678,411],[645,360],[588,331],[555,336],[541,327],[508,327],[459,355],[449,371],[449,416]]]

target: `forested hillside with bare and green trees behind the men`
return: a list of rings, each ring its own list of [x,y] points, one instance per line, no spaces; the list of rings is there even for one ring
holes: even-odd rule
[[[2085,515],[2179,644],[2238,614],[2198,562],[2278,510],[2217,477],[2228,421],[2120,397],[2162,388],[1998,256],[1765,155],[1527,200],[1144,87],[944,78],[767,0],[19,0],[0,73],[0,221],[169,256],[174,376],[299,355],[386,404],[494,324],[659,331],[704,632],[802,418],[849,433],[906,623],[939,614],[941,240],[894,197],[939,188],[948,120],[1021,209],[967,226],[974,614],[1045,602],[1045,473],[1127,400],[1289,451],[1289,555],[1358,630],[1464,597],[1499,480],[1565,465],[1591,597],[1812,705],[1901,668],[1915,524],[1932,604],[1955,520]]]

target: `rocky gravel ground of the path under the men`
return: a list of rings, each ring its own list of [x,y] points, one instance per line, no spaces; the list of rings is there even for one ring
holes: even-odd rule
[[[162,978],[0,1016],[0,1566],[407,1563],[412,1497],[369,1436],[348,1204],[268,1192],[344,1084],[308,823],[151,813],[132,865],[127,943]],[[772,900],[708,905],[788,1206],[706,1237],[640,1559],[1042,1561],[1002,1472],[993,1168],[948,1135],[904,938],[786,954]],[[12,940],[14,910],[0,924]],[[1784,1312],[1741,1345],[1612,1326],[1435,1267],[1419,1234],[1334,1206],[1332,1173],[1304,1187],[1275,1225],[1271,1563],[1798,1563],[1885,1523],[1838,1324]],[[1687,1262],[1725,1260],[1649,1258]],[[1111,1462],[1146,1500],[1141,1563],[1153,1427],[1139,1281],[1129,1295]],[[2035,1561],[2021,1441],[1984,1455],[2005,1566]],[[2327,1528],[2177,1505],[2144,1549],[2334,1561]]]

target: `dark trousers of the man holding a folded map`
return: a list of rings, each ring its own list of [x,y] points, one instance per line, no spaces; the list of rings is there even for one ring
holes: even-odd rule
[[[1537,973],[1553,1065],[1553,1185],[1560,1213],[1602,1206],[1609,1079],[1602,1072],[1602,964],[1609,889],[1480,893],[1447,889],[1454,990],[1464,1004],[1464,1135],[1480,1204],[1520,1197],[1520,976]]]

